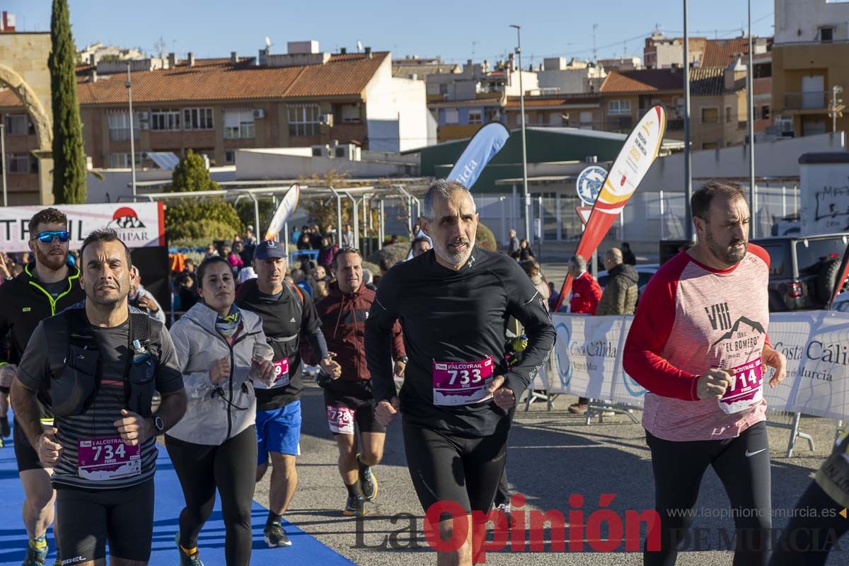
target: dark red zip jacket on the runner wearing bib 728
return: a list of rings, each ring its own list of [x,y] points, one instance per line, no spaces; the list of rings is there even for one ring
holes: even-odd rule
[[[374,302],[374,291],[360,285],[352,294],[342,294],[339,285],[329,285],[329,294],[316,303],[327,350],[336,353],[342,367],[342,379],[365,381],[371,378],[366,367],[365,322]],[[404,356],[401,325],[392,328],[392,357]]]

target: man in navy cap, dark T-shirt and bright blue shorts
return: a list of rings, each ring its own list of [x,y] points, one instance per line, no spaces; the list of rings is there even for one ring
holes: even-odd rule
[[[340,367],[327,351],[315,305],[295,285],[284,283],[286,252],[266,240],[254,252],[256,279],[239,287],[235,304],[256,312],[262,330],[274,350],[276,381],[271,387],[256,383],[256,440],[258,445],[256,481],[262,479],[271,458],[271,487],[268,518],[264,530],[268,546],[291,546],[280,520],[295,495],[298,473],[295,458],[301,455],[301,356],[303,334],[320,365],[331,377],[340,376]]]

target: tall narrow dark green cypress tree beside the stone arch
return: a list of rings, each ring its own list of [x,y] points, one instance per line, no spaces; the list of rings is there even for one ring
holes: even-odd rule
[[[86,157],[76,100],[76,47],[70,34],[67,0],[53,0],[52,49],[48,57],[53,105],[53,200],[59,205],[86,202]]]

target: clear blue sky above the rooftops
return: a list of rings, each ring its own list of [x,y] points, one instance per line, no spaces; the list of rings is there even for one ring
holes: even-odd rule
[[[751,0],[755,35],[771,36],[774,0]],[[5,0],[0,9],[17,16],[20,31],[49,31],[50,0]],[[447,61],[503,58],[514,48],[522,26],[522,63],[543,57],[588,59],[593,24],[598,24],[599,58],[642,56],[644,37],[659,25],[670,36],[683,34],[682,0],[70,0],[77,47],[92,42],[185,56],[254,55],[266,36],[273,53],[287,41],[317,39],[323,50],[356,48],[357,40],[394,56],[440,55]],[[690,0],[691,35],[739,36],[746,22],[743,0]]]

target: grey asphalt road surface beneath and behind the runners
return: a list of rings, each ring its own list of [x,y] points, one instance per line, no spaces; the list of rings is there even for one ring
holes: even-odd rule
[[[561,395],[550,412],[544,403],[535,403],[530,412],[524,412],[522,407],[516,413],[507,468],[512,489],[526,496],[526,511],[559,510],[568,516],[570,510],[577,508],[583,510],[587,522],[599,509],[602,494],[616,496],[608,507],[620,517],[625,517],[627,510],[652,508],[654,488],[644,429],[624,415],[606,417],[604,423],[587,426],[583,417],[566,411],[574,400],[570,395]],[[374,468],[380,481],[379,496],[368,504],[368,516],[357,520],[341,515],[346,490],[336,468],[336,446],[327,427],[320,389],[308,386],[302,406],[299,486],[285,517],[357,564],[435,563],[434,552],[422,532],[422,512],[406,467],[400,422],[389,429],[384,460]],[[635,415],[640,416],[638,411]],[[781,513],[795,506],[811,481],[812,472],[829,453],[835,422],[806,417],[802,429],[813,435],[816,450],[810,451],[807,442],[800,440],[791,458],[784,457],[789,431],[769,429],[776,528],[784,526],[786,515]],[[265,479],[256,491],[256,501],[266,506],[267,489]],[[582,506],[570,504],[572,494],[583,497]],[[691,544],[679,555],[678,564],[731,564],[733,553],[720,548],[721,530],[733,533],[732,519],[720,516],[728,508],[728,497],[712,470],[703,479],[697,508],[703,513],[694,524],[703,530],[700,550]],[[849,548],[849,540],[843,542]],[[593,552],[585,540],[583,548],[584,552],[551,552],[547,545],[545,552],[532,554],[508,548],[488,552],[486,563],[642,564],[641,555],[625,552],[624,545],[615,552]],[[286,549],[279,552],[281,563],[285,563]],[[846,563],[849,553],[832,552],[829,564]]]

